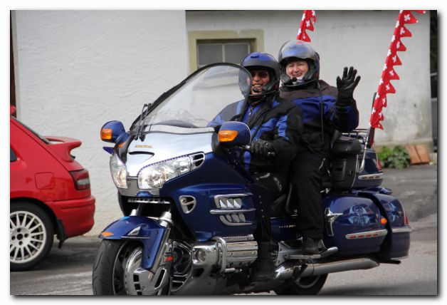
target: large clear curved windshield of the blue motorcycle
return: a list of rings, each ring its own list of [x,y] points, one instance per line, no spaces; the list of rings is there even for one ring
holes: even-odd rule
[[[205,66],[186,78],[166,99],[152,105],[135,128],[142,127],[140,131],[148,133],[153,125],[179,128],[221,125],[241,112],[251,83],[250,73],[241,66],[231,63]]]

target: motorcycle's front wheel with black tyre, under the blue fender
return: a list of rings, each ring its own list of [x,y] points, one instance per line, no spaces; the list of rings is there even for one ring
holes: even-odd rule
[[[125,240],[102,240],[93,265],[93,294],[168,294],[169,269],[153,274],[141,268],[142,244]]]

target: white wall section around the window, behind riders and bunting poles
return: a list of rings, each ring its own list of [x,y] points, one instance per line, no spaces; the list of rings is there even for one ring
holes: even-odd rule
[[[377,90],[386,52],[399,11],[315,11],[315,31],[307,31],[320,53],[320,77],[335,86],[344,66],[362,76],[354,93],[360,113],[359,128],[367,128],[372,96]],[[278,58],[285,41],[295,39],[302,10],[297,11],[187,11],[188,31],[263,29],[264,51]],[[391,81],[396,94],[388,94],[384,130],[376,143],[431,142],[430,18],[414,13],[418,24],[408,24],[412,37],[402,38],[407,51],[397,52],[400,80]]]

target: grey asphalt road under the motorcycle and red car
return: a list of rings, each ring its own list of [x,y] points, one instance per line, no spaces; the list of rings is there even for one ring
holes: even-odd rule
[[[436,166],[419,165],[385,173],[383,185],[402,202],[414,229],[409,258],[399,265],[381,264],[364,271],[330,274],[320,295],[438,294]],[[48,259],[36,269],[9,273],[10,294],[16,295],[14,299],[18,295],[92,295],[91,270],[99,242],[96,237],[75,237],[68,239],[62,249],[55,243]]]

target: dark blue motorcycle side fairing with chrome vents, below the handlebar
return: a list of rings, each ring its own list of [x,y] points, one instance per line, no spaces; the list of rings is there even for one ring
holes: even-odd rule
[[[177,177],[166,182],[160,196],[174,199],[179,214],[196,241],[206,242],[214,236],[253,234],[256,229],[255,202],[259,196],[265,196],[260,189],[265,190],[247,181],[238,170],[228,166],[223,157],[209,153],[201,167],[183,175],[182,179]],[[191,212],[182,209],[182,196],[194,197],[196,206]],[[219,204],[219,198],[224,200],[224,205]],[[268,202],[266,198],[264,202]],[[226,205],[227,199],[231,202],[240,199],[241,205]],[[238,213],[237,210],[245,212]]]

